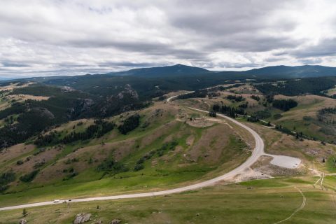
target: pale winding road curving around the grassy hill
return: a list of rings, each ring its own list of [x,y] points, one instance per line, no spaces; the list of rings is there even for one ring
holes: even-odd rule
[[[172,99],[176,97],[177,96],[169,97],[167,99],[167,102],[170,102]],[[195,111],[200,111],[202,113],[209,113],[208,111],[204,111],[201,109],[195,109],[191,107],[190,109],[193,109]],[[45,205],[50,205],[50,204],[59,204],[61,202],[92,202],[92,201],[99,201],[99,200],[119,200],[119,199],[127,199],[127,198],[155,197],[155,196],[160,196],[160,195],[171,195],[175,193],[182,193],[188,190],[204,188],[207,186],[214,186],[219,181],[223,181],[225,179],[231,179],[238,174],[242,174],[245,169],[248,169],[249,167],[251,167],[251,165],[253,165],[253,163],[256,162],[261,155],[266,155],[264,153],[264,141],[262,141],[261,137],[259,136],[257,132],[252,130],[250,127],[247,127],[246,125],[239,123],[237,120],[232,119],[228,116],[224,116],[222,114],[218,114],[217,116],[230,120],[232,123],[235,123],[236,125],[239,125],[240,127],[244,128],[245,130],[250,132],[253,138],[255,139],[255,148],[252,151],[252,155],[243,164],[239,165],[239,167],[232,169],[232,171],[226,174],[218,176],[214,179],[210,179],[208,181],[203,181],[200,183],[195,183],[190,186],[175,188],[171,190],[161,190],[161,191],[155,191],[155,192],[150,192],[150,193],[136,193],[136,194],[128,194],[128,195],[113,195],[113,196],[106,196],[106,197],[88,197],[88,198],[80,198],[80,199],[73,199],[73,200],[59,200],[59,202],[56,202],[56,203],[54,201],[37,202],[37,203],[32,203],[32,204],[21,204],[21,205],[16,205],[16,206],[11,206],[11,207],[2,207],[0,208],[0,211],[10,210],[10,209],[23,209],[23,208],[29,208],[29,207],[38,207],[38,206],[45,206]],[[274,155],[269,155],[269,156],[274,156]]]

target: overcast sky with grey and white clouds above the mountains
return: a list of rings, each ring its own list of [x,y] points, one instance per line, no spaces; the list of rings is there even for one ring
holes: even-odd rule
[[[0,79],[336,66],[333,0],[1,0]]]

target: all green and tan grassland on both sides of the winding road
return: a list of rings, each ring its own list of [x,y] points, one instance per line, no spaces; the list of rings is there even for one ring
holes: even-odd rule
[[[212,104],[223,102],[238,106],[241,102],[230,102],[225,98],[228,94],[237,93],[243,94],[246,102],[253,105],[248,108],[250,112],[265,109],[249,97],[255,91],[248,85],[232,91],[213,99],[176,100],[172,104],[155,102],[147,109],[109,118],[118,125],[123,118],[140,113],[141,125],[126,135],[120,134],[115,128],[99,139],[41,147],[45,149],[43,151],[31,144],[11,147],[1,152],[0,171],[13,170],[16,180],[5,194],[0,195],[0,207],[164,190],[224,174],[251,154],[254,145],[251,134],[223,119],[210,120],[204,114],[181,105],[209,109]],[[303,117],[315,118],[316,111],[325,105],[334,105],[334,99],[300,96],[295,100],[299,106],[287,112],[269,108],[272,115],[282,115],[279,120],[270,118],[272,123],[323,137],[318,135],[321,127],[304,125],[307,120],[304,121]],[[276,178],[220,185],[166,197],[55,204],[28,209],[26,218],[29,223],[73,223],[76,214],[85,212],[92,214],[92,222],[101,220],[104,223],[109,223],[113,218],[119,218],[123,223],[276,223],[290,216],[302,204],[302,195],[297,190],[299,188],[307,197],[307,203],[286,223],[335,221],[335,176],[325,176],[325,188],[313,188],[312,184],[318,180],[318,176],[312,176],[307,168],[323,170],[328,174],[335,172],[332,158],[335,157],[336,147],[321,144],[320,141],[300,141],[260,123],[248,123],[244,118],[239,120],[260,134],[265,140],[267,153],[300,158],[303,164],[300,169],[284,171],[260,162],[259,168],[264,169],[261,172]],[[83,125],[77,125],[79,122]],[[60,137],[64,137],[73,130],[83,132],[92,123],[93,120],[71,121],[55,130],[60,133]],[[173,142],[176,143],[173,148],[162,155],[157,153],[162,146],[169,146]],[[142,162],[144,167],[136,171],[138,161],[153,151],[156,153]],[[127,167],[127,171],[97,170],[99,165],[111,158]],[[322,162],[323,158],[326,162]],[[25,162],[17,165],[18,160]],[[34,181],[19,181],[22,174],[36,169],[34,167],[41,161],[44,163],[39,167],[40,172]],[[69,170],[73,170],[76,175],[70,176]],[[0,212],[0,223],[18,223],[20,218],[21,209]]]

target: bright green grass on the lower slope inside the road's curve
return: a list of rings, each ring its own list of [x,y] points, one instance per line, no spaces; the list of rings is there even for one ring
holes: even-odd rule
[[[125,157],[120,162],[123,162],[130,168],[130,172],[120,174],[108,174],[101,179],[104,172],[97,172],[97,164],[92,165],[85,171],[80,172],[78,176],[67,181],[53,179],[50,183],[20,183],[19,186],[10,188],[8,194],[0,195],[1,205],[3,204],[18,204],[28,202],[40,202],[45,200],[54,200],[55,198],[74,198],[87,197],[94,195],[113,195],[117,193],[131,193],[136,191],[146,192],[154,188],[167,189],[181,186],[183,183],[190,181],[200,181],[210,179],[222,172],[226,172],[234,167],[237,167],[244,162],[249,153],[242,151],[246,147],[244,141],[237,139],[234,136],[229,137],[228,145],[223,148],[225,155],[218,164],[209,165],[206,162],[190,163],[187,166],[180,167],[183,153],[187,151],[186,139],[191,135],[195,136],[195,141],[198,141],[207,128],[190,127],[183,123],[176,123],[165,134],[162,135],[146,147],[141,147],[134,151],[132,155]],[[137,160],[144,156],[149,151],[160,148],[164,140],[173,134],[173,139],[178,141],[182,151],[165,152],[165,157],[169,158],[169,162],[162,157],[154,155],[152,159],[158,161],[158,165],[152,167],[151,161],[144,162],[144,169],[133,172]],[[138,141],[141,142],[144,137],[140,135]],[[64,158],[73,151],[76,146],[66,146],[66,148],[57,155],[56,160]],[[235,160],[232,160],[232,157]],[[183,160],[184,161],[184,160]],[[50,162],[48,162],[50,164]]]

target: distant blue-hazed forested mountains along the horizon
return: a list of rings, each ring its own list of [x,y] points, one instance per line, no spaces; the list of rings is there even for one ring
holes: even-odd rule
[[[251,69],[246,71],[209,71],[195,66],[186,66],[176,64],[173,66],[160,66],[141,69],[130,69],[128,71],[110,72],[104,74],[84,75],[84,76],[52,76],[52,77],[34,77],[18,80],[34,81],[38,83],[47,83],[52,85],[76,84],[77,80],[101,80],[102,77],[137,77],[137,78],[155,78],[160,80],[164,78],[170,83],[176,80],[190,81],[190,78],[196,79],[216,79],[216,80],[241,80],[248,79],[279,79],[279,78],[314,78],[325,76],[336,76],[336,68],[328,66],[267,66],[260,69]],[[200,80],[201,81],[201,80]],[[1,83],[8,83],[8,80],[2,80]],[[186,83],[184,83],[186,84]],[[188,85],[188,84],[187,84]],[[193,83],[191,83],[193,85]]]

